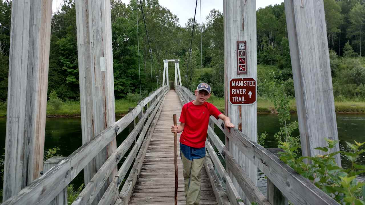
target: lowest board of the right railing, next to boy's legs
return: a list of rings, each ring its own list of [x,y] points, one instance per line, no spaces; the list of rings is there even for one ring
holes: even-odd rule
[[[223,186],[220,183],[217,174],[215,173],[213,163],[209,157],[205,157],[204,167],[208,173],[210,182],[212,184],[212,189],[213,189],[215,197],[218,201],[218,204],[219,205],[230,205],[230,202],[228,201],[228,198],[227,198],[227,194],[224,191]]]

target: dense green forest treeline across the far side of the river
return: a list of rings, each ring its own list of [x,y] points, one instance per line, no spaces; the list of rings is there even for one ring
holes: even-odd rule
[[[139,93],[139,63],[142,92],[151,92],[152,86],[156,89],[159,85],[155,69],[161,80],[163,59],[180,59],[181,78],[187,87],[190,86],[191,69],[193,87],[203,79],[212,85],[215,96],[223,97],[223,13],[213,9],[205,23],[195,22],[192,57],[188,64],[193,19],[180,25],[177,16],[162,7],[158,0],[143,0],[142,6],[154,63],[151,63],[139,4],[136,0],[130,0],[128,5],[121,0],[111,0],[116,98]],[[193,5],[191,9],[194,9]],[[324,0],[324,9],[335,98],[364,101],[365,0]],[[2,0],[0,11],[0,100],[6,101],[11,1]],[[203,69],[200,69],[200,34]],[[269,97],[278,88],[294,96],[284,3],[257,10],[257,57],[259,96]],[[169,74],[173,80],[173,70]],[[61,10],[52,17],[48,94],[53,90],[62,100],[79,99],[74,0],[64,0]]]

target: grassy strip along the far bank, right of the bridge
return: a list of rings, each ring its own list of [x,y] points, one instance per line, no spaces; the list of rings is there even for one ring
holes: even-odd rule
[[[212,96],[208,102],[214,104],[219,111],[224,112],[224,98]],[[336,112],[360,112],[365,113],[365,102],[364,101],[335,101]],[[276,112],[273,102],[268,98],[258,97],[257,99],[257,112]],[[295,99],[290,101],[290,112],[296,112],[296,101]]]

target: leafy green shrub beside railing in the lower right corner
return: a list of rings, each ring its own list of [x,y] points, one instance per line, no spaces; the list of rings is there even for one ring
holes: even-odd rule
[[[326,139],[328,146],[318,147],[316,150],[321,150],[323,155],[300,157],[297,158],[298,146],[290,142],[281,142],[278,146],[284,152],[280,153],[280,159],[292,167],[297,173],[308,178],[315,186],[323,190],[330,197],[334,198],[339,204],[353,205],[362,204],[364,195],[364,182],[358,182],[356,176],[365,173],[365,166],[356,163],[357,158],[365,152],[361,147],[365,143],[355,144],[346,142],[351,148],[351,152],[343,152],[343,154],[352,163],[349,169],[343,169],[337,166],[334,156],[342,153],[342,151],[331,152],[338,141]],[[306,164],[303,159],[311,160],[311,164]]]

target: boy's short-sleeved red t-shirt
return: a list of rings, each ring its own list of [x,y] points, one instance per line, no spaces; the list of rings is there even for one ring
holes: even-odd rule
[[[180,142],[194,148],[205,147],[209,117],[213,115],[218,119],[220,114],[221,112],[209,102],[202,105],[194,105],[193,102],[185,104],[180,115],[180,122],[185,123]]]

